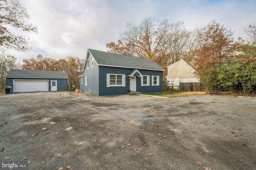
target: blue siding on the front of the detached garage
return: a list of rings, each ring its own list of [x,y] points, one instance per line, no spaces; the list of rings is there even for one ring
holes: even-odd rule
[[[57,80],[57,91],[68,91],[68,79],[49,79],[49,78],[6,78],[6,86],[11,86],[13,89],[13,80],[49,80],[48,87],[49,91],[51,91],[51,81]]]

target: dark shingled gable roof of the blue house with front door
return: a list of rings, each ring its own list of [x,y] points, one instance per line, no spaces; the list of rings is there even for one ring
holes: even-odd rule
[[[164,68],[147,58],[107,53],[92,49],[88,49],[88,51],[99,66],[165,71]]]

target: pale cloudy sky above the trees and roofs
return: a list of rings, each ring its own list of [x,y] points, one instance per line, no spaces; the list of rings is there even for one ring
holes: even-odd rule
[[[31,15],[38,34],[30,38],[29,53],[9,51],[23,59],[85,57],[87,49],[107,51],[118,40],[127,22],[138,25],[144,18],[183,21],[187,29],[204,27],[212,20],[242,37],[242,27],[256,17],[255,0],[20,0]]]

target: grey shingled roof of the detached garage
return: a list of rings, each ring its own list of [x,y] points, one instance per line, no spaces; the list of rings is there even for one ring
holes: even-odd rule
[[[6,78],[63,78],[68,79],[68,74],[62,71],[44,71],[44,70],[18,70],[12,69],[6,75]]]

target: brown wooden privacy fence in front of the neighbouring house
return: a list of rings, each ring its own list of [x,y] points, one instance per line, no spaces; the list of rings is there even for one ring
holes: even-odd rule
[[[180,82],[180,91],[182,92],[205,92],[206,86],[201,82]]]

